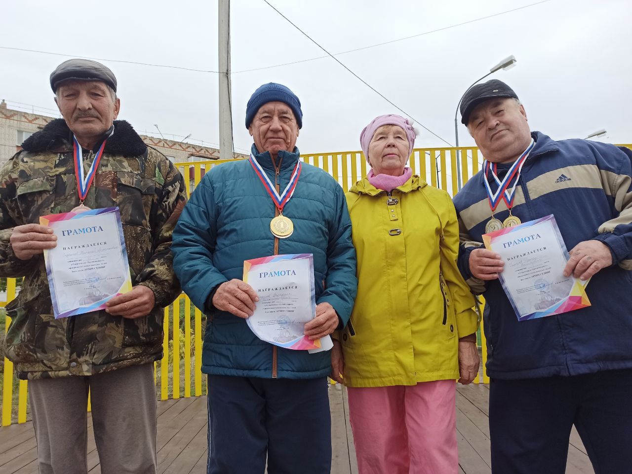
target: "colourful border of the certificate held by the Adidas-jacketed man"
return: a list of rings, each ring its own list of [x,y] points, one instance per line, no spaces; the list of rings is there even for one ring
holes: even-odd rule
[[[532,220],[530,222],[524,222],[520,225],[516,225],[516,227],[507,227],[501,228],[500,230],[495,230],[494,232],[490,232],[489,234],[483,234],[483,243],[485,244],[485,248],[488,250],[492,250],[492,242],[498,239],[503,235],[507,235],[514,230],[518,230],[525,227],[533,227],[533,225],[540,224],[542,222],[550,221],[553,227],[553,230],[557,237],[557,243],[564,252],[564,256],[568,260],[570,257],[568,250],[566,249],[566,244],[564,244],[564,239],[562,239],[562,234],[559,232],[559,227],[557,227],[557,222],[555,220],[555,216],[550,214],[548,216],[542,217],[540,219]],[[505,294],[507,295],[507,299],[511,303],[511,306],[516,312],[516,316],[518,316],[518,321],[528,321],[529,319],[537,319],[538,317],[545,316],[553,316],[554,314],[562,314],[563,312],[574,311],[576,309],[585,308],[590,306],[590,300],[588,300],[588,295],[586,295],[586,283],[587,281],[581,281],[579,278],[574,278],[573,287],[569,292],[568,296],[563,298],[560,302],[557,302],[549,309],[545,309],[544,311],[536,311],[531,314],[525,314],[520,316],[520,312],[514,303],[513,298],[511,297],[509,290],[505,285],[505,280],[502,277],[502,273],[499,274],[499,280],[501,281],[502,289],[505,290]]]

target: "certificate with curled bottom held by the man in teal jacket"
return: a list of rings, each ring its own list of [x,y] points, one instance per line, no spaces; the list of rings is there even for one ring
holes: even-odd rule
[[[312,254],[274,255],[246,260],[243,281],[259,296],[248,327],[260,340],[288,349],[320,352],[329,336],[310,341],[305,323],[316,317]]]

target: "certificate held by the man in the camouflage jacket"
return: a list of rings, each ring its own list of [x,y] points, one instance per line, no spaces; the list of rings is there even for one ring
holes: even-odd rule
[[[119,208],[40,217],[57,246],[44,251],[55,319],[97,311],[131,290]]]

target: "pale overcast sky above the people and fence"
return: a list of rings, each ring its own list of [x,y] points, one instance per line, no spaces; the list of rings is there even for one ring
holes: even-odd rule
[[[269,0],[329,52],[419,35],[528,6],[538,0]],[[217,71],[216,1],[3,2],[0,47]],[[416,121],[454,143],[454,111],[467,86],[501,59],[518,62],[506,81],[532,129],[554,139],[607,129],[632,143],[629,0],[549,0],[337,58]],[[259,85],[284,83],[301,100],[304,153],[359,150],[362,128],[399,113],[323,56],[263,0],[231,1],[234,144],[248,150],[245,107]],[[70,57],[70,56],[69,56]],[[0,98],[54,109],[48,78],[69,57],[0,48]],[[219,142],[216,73],[102,61],[119,83],[121,115],[137,131]],[[49,112],[53,113],[52,110]],[[459,124],[461,145],[473,144]],[[423,131],[417,146],[445,146]]]

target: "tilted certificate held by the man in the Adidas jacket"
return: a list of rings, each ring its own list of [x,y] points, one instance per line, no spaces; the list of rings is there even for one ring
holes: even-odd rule
[[[490,232],[483,242],[505,263],[499,278],[518,321],[590,306],[586,282],[562,274],[569,254],[553,215]]]

